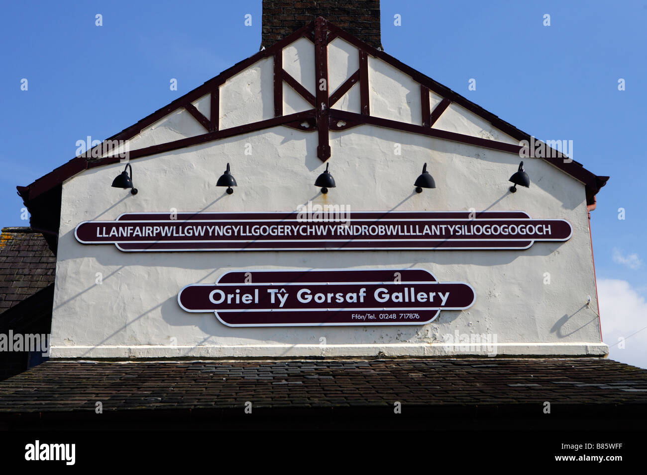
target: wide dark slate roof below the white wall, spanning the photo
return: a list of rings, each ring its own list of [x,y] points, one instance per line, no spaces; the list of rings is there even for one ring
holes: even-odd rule
[[[647,370],[609,359],[173,362],[50,360],[0,382],[7,413],[254,407],[613,405],[647,408]]]

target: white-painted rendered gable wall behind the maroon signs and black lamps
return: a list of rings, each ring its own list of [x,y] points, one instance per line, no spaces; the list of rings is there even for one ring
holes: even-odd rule
[[[307,50],[303,44],[300,47]],[[344,55],[338,56],[344,63]],[[380,63],[369,61],[371,112],[417,123],[419,89],[411,79]],[[272,116],[271,77],[272,60],[267,59],[221,87],[221,128]],[[412,89],[416,94],[411,93],[409,100],[405,92]],[[452,113],[463,112],[452,109]],[[181,121],[180,129],[195,121],[186,113],[173,117]],[[487,129],[482,127],[487,124],[468,114],[452,124],[465,134]],[[172,136],[167,129],[157,130],[156,136],[155,130],[149,131],[155,140]],[[245,155],[248,143],[252,155]],[[394,154],[395,143],[402,146],[399,156]],[[472,351],[475,354],[608,352],[600,342],[598,317],[585,305],[591,295],[591,306],[597,308],[580,182],[540,159],[527,159],[531,187],[512,195],[507,179],[520,160],[514,154],[363,125],[331,132],[329,163],[337,187],[321,195],[313,183],[325,164],[316,157],[316,146],[316,133],[275,127],[140,158],[132,162],[136,196],[110,187],[123,169],[121,164],[87,170],[67,180],[52,356],[465,354],[443,343],[444,335],[455,332],[496,335],[493,350],[481,348]],[[227,162],[238,183],[233,195],[214,186]],[[437,188],[416,194],[413,181],[424,162]],[[74,238],[79,222],[112,220],[127,211],[279,211],[294,210],[308,200],[345,204],[356,211],[523,210],[533,218],[565,218],[574,232],[567,242],[536,242],[521,251],[123,253],[113,245],[83,245]],[[443,311],[424,326],[287,328],[230,328],[213,313],[187,313],[177,304],[182,287],[214,282],[232,269],[376,267],[426,268],[441,281],[468,282],[476,290],[476,302],[468,310]],[[97,273],[102,284],[96,284]],[[543,284],[545,273],[551,275],[549,285]],[[320,344],[322,337],[326,345]]]

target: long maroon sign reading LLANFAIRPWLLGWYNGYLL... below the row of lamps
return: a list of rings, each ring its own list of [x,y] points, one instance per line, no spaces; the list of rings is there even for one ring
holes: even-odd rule
[[[124,213],[74,230],[83,244],[121,251],[527,249],[571,235],[567,220],[524,211],[353,211],[341,222],[296,211]]]

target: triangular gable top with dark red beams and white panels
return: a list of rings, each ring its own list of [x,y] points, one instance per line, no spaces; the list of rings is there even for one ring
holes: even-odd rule
[[[324,35],[320,53],[314,38],[317,25]],[[319,73],[316,61],[323,61]],[[327,82],[325,94],[319,94],[321,108],[314,107],[317,74],[325,74]],[[529,134],[322,18],[17,189],[29,205],[83,169],[122,161],[124,142],[129,159],[136,159],[276,125],[318,131],[320,142],[327,142],[327,131],[363,123],[509,153],[520,153],[520,141],[531,140]],[[118,153],[104,153],[115,141],[122,143]],[[328,150],[320,143],[321,160],[329,158]],[[582,182],[587,202],[593,203],[608,176],[596,176],[553,152],[542,160]]]

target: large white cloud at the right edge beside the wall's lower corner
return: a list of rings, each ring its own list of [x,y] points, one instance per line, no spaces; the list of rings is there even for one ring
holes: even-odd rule
[[[626,280],[598,279],[602,341],[609,358],[647,368],[647,302]],[[624,348],[619,339],[624,338]]]

